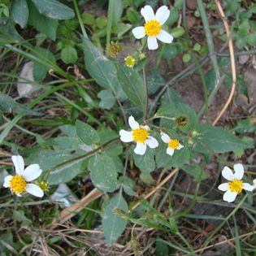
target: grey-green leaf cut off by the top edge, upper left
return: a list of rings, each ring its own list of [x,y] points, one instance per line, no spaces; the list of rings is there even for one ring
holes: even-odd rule
[[[67,20],[75,16],[74,11],[56,0],[32,0],[38,11],[54,20]]]

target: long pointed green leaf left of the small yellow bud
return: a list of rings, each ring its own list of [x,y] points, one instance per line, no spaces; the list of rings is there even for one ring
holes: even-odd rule
[[[96,80],[98,85],[105,89],[111,89],[115,96],[124,100],[124,91],[117,79],[114,63],[107,59],[89,39],[83,37],[83,44],[85,66],[89,74]]]

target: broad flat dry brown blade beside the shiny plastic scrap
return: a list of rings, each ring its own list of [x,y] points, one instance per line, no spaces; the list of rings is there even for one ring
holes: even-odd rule
[[[54,229],[57,227],[57,223],[63,223],[67,221],[67,219],[71,219],[74,215],[79,213],[81,210],[85,208],[85,206],[89,205],[90,202],[102,196],[102,192],[98,189],[93,189],[88,195],[82,198],[80,201],[76,202],[74,205],[67,207],[62,210],[59,214],[58,219],[54,219],[50,224],[50,229]]]

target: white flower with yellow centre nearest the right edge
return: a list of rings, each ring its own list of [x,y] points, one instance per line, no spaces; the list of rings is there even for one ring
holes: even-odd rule
[[[218,189],[225,192],[223,194],[223,200],[226,202],[234,202],[236,196],[240,194],[243,189],[247,191],[254,190],[253,185],[241,181],[245,172],[241,163],[236,163],[234,170],[235,173],[228,167],[224,167],[222,170],[222,176],[229,182],[220,184]]]

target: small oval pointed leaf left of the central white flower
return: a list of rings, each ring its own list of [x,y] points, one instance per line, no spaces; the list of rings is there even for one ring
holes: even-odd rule
[[[85,145],[98,144],[100,139],[98,133],[89,124],[76,120],[76,133]]]

